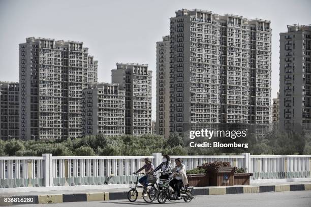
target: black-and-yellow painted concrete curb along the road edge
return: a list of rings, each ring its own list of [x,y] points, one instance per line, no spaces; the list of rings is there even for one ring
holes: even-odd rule
[[[201,187],[201,188],[194,188],[192,190],[192,194],[225,195],[236,193],[263,193],[263,192],[304,191],[304,190],[311,190],[311,184]],[[127,194],[128,192],[126,191],[126,192],[91,192],[91,193],[88,192],[76,194],[0,196],[0,205],[121,200],[127,199]],[[138,198],[141,198],[140,191],[138,191]]]

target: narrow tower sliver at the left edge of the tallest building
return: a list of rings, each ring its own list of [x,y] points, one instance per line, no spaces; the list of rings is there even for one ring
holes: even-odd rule
[[[170,36],[157,42],[157,120],[156,132],[170,134]]]

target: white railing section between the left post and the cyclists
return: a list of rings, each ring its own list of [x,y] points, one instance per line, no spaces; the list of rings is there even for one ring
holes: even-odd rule
[[[53,157],[55,186],[123,184],[133,181],[132,173],[154,156]]]

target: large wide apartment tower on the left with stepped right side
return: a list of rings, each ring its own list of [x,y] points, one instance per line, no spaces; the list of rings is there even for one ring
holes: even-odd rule
[[[97,61],[82,42],[27,38],[19,45],[20,138],[82,135],[82,90],[97,82]]]

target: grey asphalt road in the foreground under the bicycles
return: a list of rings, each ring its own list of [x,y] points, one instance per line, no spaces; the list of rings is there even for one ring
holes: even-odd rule
[[[196,196],[190,203],[185,203],[183,200],[159,204],[158,202],[145,203],[144,200],[138,199],[136,202],[128,200],[110,200],[110,201],[91,201],[91,202],[65,202],[52,204],[23,204],[20,207],[27,206],[74,206],[74,207],[139,207],[139,206],[174,206],[174,207],[212,207],[212,206],[230,206],[230,207],[310,207],[311,206],[311,191],[287,191],[287,192],[265,192],[265,193],[250,193],[250,194],[229,194],[229,195],[201,195]]]

